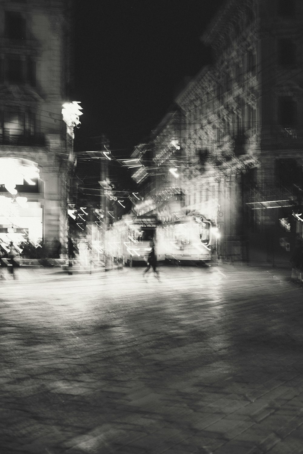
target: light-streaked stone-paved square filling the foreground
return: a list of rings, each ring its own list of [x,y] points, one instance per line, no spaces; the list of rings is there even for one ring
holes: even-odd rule
[[[0,281],[0,452],[303,453],[303,290],[219,266]]]

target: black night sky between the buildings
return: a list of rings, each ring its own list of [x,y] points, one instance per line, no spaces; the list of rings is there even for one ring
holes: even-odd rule
[[[75,82],[81,128],[75,150],[105,133],[128,157],[160,122],[184,78],[210,62],[200,42],[224,0],[75,0]]]

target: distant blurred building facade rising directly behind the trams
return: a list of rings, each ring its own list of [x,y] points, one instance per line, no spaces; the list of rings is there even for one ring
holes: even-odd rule
[[[184,114],[177,105],[168,109],[162,121],[153,129],[149,142],[135,148],[132,158],[139,159],[144,167],[134,170],[132,178],[139,183],[143,201],[134,203],[138,216],[148,215],[162,222],[174,220],[174,212],[184,205],[181,175],[181,136]]]

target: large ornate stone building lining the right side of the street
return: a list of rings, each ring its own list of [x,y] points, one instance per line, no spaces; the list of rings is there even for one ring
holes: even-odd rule
[[[175,99],[183,113],[180,208],[219,227],[224,261],[285,264],[302,237],[303,220],[293,216],[303,194],[302,28],[300,0],[227,0],[201,37],[213,64]],[[152,141],[155,174],[172,164],[169,121]],[[145,198],[155,196],[157,181],[174,187],[166,176],[153,178]],[[159,212],[159,204],[151,208]]]

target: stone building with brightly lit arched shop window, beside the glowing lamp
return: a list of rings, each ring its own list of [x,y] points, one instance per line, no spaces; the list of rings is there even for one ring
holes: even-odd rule
[[[0,231],[6,240],[67,242],[73,146],[61,109],[72,68],[70,11],[69,1],[0,2]]]

